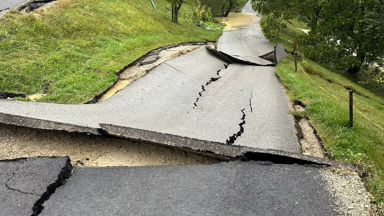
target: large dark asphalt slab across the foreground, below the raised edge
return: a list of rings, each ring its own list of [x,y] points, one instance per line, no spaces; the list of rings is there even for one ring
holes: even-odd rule
[[[41,216],[336,216],[320,168],[213,165],[76,167]]]

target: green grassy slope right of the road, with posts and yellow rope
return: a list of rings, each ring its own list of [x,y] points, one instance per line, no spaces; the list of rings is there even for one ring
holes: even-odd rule
[[[296,27],[288,23],[288,28],[282,30],[280,36],[295,40],[301,34],[296,31]],[[288,50],[293,49],[292,43],[281,38],[271,38],[270,41],[283,43]],[[354,106],[372,121],[384,126],[384,101],[380,96],[304,57],[299,62],[316,83],[341,100],[348,103],[348,89],[353,90]],[[376,201],[384,206],[384,131],[356,110],[354,127],[349,128],[348,105],[321,90],[300,67],[296,73],[292,56],[286,56],[280,61],[276,73],[280,76],[288,97],[307,105],[305,113],[301,115],[310,118],[331,157],[349,163],[365,164],[365,168],[371,171],[371,178],[366,178],[367,188]]]

